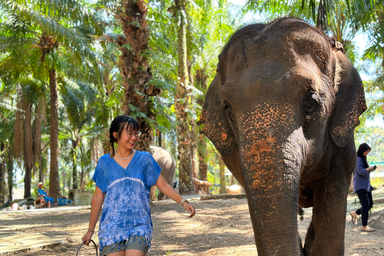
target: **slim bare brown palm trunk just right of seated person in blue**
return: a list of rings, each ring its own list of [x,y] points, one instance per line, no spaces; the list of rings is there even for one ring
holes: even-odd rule
[[[49,196],[52,198],[61,197],[60,183],[58,180],[58,116],[57,116],[57,83],[56,70],[49,70],[50,90],[50,161],[49,161]]]

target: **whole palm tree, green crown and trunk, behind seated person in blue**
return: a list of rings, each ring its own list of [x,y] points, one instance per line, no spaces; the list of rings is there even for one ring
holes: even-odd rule
[[[60,195],[58,180],[57,70],[65,71],[65,61],[89,69],[96,59],[89,47],[89,34],[101,34],[101,26],[89,8],[75,0],[1,1],[8,19],[6,31],[8,64],[29,63],[33,74],[49,81],[50,92],[50,177],[49,196]],[[66,59],[63,57],[67,56]],[[69,57],[70,56],[70,57]],[[12,60],[12,61],[11,61]],[[36,66],[37,63],[37,66]],[[96,70],[97,71],[97,70]]]

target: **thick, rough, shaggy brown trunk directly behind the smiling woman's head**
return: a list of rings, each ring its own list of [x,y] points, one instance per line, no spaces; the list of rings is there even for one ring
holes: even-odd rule
[[[122,7],[116,7],[115,13],[124,33],[117,36],[117,45],[121,51],[118,66],[124,84],[122,112],[137,119],[142,133],[136,149],[141,151],[149,151],[153,141],[153,130],[149,122],[154,121],[155,116],[148,107],[148,99],[160,93],[159,88],[147,84],[151,72],[148,67],[149,29],[145,20],[146,15],[145,0],[123,0]],[[135,112],[141,112],[145,118]]]

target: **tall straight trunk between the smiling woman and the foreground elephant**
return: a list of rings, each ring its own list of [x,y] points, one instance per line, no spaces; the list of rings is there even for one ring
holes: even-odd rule
[[[188,70],[186,63],[186,13],[185,13],[185,0],[175,0],[175,18],[177,27],[177,56],[178,56],[178,70],[177,75],[180,79],[177,82],[177,92],[174,101],[175,112],[177,116],[177,150],[178,150],[178,170],[179,170],[179,191],[189,192],[194,190],[192,182],[192,165],[190,156],[190,131],[189,122],[190,118],[189,109],[189,95],[188,91]]]

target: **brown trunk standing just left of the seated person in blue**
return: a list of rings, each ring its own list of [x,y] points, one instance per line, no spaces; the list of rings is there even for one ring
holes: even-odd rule
[[[32,104],[26,103],[24,121],[24,198],[31,196],[30,185],[33,165]]]

